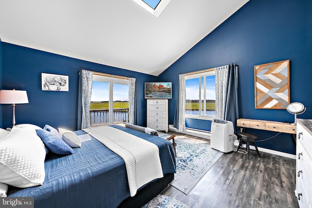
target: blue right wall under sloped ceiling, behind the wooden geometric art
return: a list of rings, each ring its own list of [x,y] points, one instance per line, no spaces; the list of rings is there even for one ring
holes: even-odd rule
[[[254,65],[290,59],[291,102],[301,102],[307,111],[298,118],[312,117],[312,1],[250,0],[212,33],[179,58],[159,79],[172,80],[169,123],[174,121],[178,75],[236,63],[238,65],[239,117],[293,122],[286,110],[254,108]],[[169,80],[165,80],[169,81]],[[202,129],[206,121],[187,119],[186,125]],[[210,130],[207,124],[206,130]],[[248,130],[260,139],[276,132]],[[259,147],[295,154],[290,134],[282,133]]]

